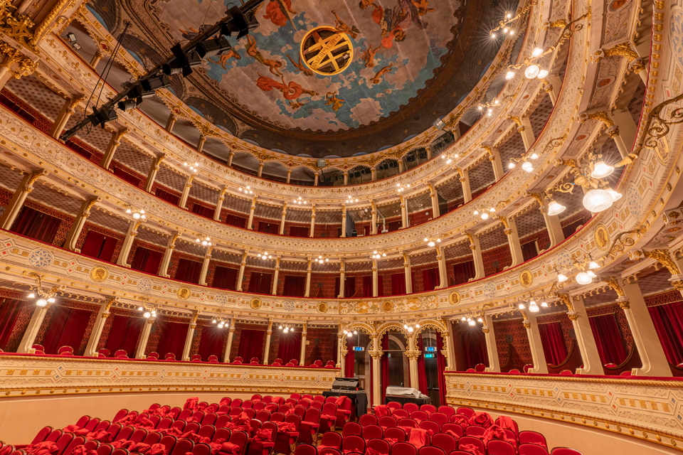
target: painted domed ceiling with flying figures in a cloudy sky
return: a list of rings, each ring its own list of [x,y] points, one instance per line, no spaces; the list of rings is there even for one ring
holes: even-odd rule
[[[258,28],[176,95],[235,136],[288,154],[369,153],[423,132],[478,82],[498,46],[499,2],[265,0]],[[125,46],[157,60],[232,2],[91,1]],[[125,17],[127,16],[127,17]],[[156,63],[152,61],[151,63]]]

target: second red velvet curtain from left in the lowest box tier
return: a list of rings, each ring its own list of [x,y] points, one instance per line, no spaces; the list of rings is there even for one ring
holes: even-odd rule
[[[71,346],[73,353],[79,354],[78,348],[92,311],[64,306],[53,306],[53,311],[55,314],[43,339],[45,353],[56,354],[62,346]]]

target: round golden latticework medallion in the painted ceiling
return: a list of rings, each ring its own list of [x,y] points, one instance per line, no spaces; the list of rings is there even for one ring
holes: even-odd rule
[[[306,66],[324,76],[342,73],[354,60],[354,46],[349,36],[329,26],[306,33],[300,52]]]

